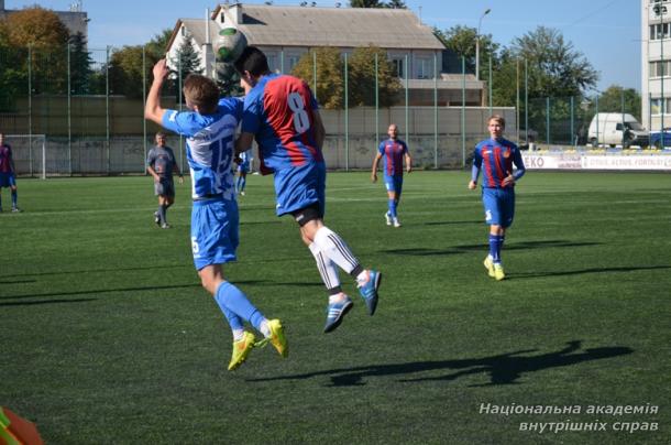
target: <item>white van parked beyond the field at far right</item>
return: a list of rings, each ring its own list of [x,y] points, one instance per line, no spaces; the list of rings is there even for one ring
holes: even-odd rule
[[[600,112],[590,123],[587,141],[597,145],[647,146],[648,132],[631,115],[622,112]]]

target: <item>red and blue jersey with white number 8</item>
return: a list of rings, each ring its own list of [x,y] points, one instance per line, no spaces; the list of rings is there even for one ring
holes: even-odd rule
[[[315,139],[312,91],[301,79],[263,76],[244,98],[242,132],[256,135],[261,173],[323,162]]]

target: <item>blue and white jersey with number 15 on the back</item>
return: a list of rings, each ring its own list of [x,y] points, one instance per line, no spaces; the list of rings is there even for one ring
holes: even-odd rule
[[[221,99],[213,115],[176,110],[166,110],[163,115],[163,127],[187,138],[194,199],[215,196],[234,199],[231,163],[241,116],[242,100],[237,98]]]

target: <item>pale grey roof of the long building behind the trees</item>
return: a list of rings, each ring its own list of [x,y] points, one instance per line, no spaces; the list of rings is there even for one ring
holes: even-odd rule
[[[429,26],[405,9],[320,8],[266,4],[220,4],[212,13],[240,9],[241,30],[252,45],[257,46],[336,46],[375,45],[398,50],[444,50]],[[227,17],[227,21],[229,17]],[[205,21],[180,19],[196,42],[205,43]],[[235,19],[233,19],[235,21]],[[224,23],[224,25],[228,23]],[[210,41],[221,25],[210,25]]]

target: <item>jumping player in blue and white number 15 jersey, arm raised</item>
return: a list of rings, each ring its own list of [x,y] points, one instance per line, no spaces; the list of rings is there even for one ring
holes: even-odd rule
[[[238,247],[238,203],[231,163],[233,139],[242,113],[242,101],[219,100],[217,84],[199,75],[184,82],[189,111],[161,107],[161,88],[169,70],[165,59],[154,66],[144,116],[164,128],[186,137],[191,172],[191,248],[202,286],[212,294],[233,332],[233,352],[229,370],[238,368],[254,346],[272,343],[282,357],[288,354],[284,328],[278,319],[267,319],[237,286],[223,276],[222,264],[235,260]],[[260,330],[265,340],[255,343],[244,330],[243,321]]]

